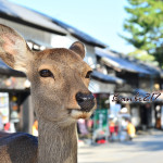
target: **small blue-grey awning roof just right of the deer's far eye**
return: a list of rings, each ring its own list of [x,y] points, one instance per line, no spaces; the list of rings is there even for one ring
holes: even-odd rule
[[[103,83],[108,83],[108,84],[118,84],[118,85],[123,85],[125,84],[125,80],[118,77],[114,77],[111,75],[104,75],[100,72],[93,71],[91,74],[91,78],[101,80]]]

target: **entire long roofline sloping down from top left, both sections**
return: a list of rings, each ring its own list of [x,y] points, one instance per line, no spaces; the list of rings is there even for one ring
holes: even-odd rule
[[[66,35],[68,32],[72,36],[91,46],[100,48],[108,47],[105,43],[66,23],[63,23],[35,10],[9,2],[8,0],[0,0],[0,14],[2,17],[50,33]]]

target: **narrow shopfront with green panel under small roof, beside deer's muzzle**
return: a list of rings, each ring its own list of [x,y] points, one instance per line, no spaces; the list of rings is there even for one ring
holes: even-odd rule
[[[97,99],[97,110],[91,116],[93,121],[93,134],[92,140],[101,142],[101,139],[104,141],[109,138],[109,114],[111,111],[110,97],[114,95],[115,86],[123,85],[125,80],[105,75],[101,72],[95,71],[91,74],[90,82],[90,91],[93,92]]]

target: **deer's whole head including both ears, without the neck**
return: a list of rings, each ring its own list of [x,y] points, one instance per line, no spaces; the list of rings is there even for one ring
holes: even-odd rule
[[[13,29],[0,25],[0,58],[12,68],[26,73],[38,118],[65,122],[87,118],[96,108],[88,90],[91,68],[83,59],[85,47],[32,52]]]

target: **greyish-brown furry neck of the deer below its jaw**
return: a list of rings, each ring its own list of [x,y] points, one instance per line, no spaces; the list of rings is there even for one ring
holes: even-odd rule
[[[38,121],[38,163],[77,163],[76,124]]]

